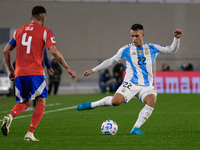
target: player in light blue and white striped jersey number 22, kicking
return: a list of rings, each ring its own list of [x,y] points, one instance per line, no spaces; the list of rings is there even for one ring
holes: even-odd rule
[[[95,102],[81,103],[77,110],[90,110],[100,106],[118,106],[128,103],[134,96],[145,104],[139,113],[130,134],[142,135],[141,125],[149,118],[154,110],[157,92],[153,87],[153,62],[158,54],[176,53],[180,45],[181,29],[175,29],[174,39],[170,46],[144,42],[144,29],[141,24],[131,26],[132,43],[119,49],[116,55],[105,60],[93,69],[84,72],[87,77],[97,71],[106,69],[122,60],[126,60],[126,75],[124,82],[114,96],[107,96]]]

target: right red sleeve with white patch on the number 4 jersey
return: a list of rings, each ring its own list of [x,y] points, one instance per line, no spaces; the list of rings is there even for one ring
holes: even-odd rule
[[[46,30],[44,32],[44,41],[46,43],[47,49],[49,49],[51,45],[56,45],[55,37],[50,30]]]

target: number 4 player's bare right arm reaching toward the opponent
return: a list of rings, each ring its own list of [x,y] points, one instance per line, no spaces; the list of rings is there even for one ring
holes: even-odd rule
[[[76,78],[75,71],[69,67],[69,65],[64,60],[62,54],[57,49],[57,47],[55,45],[51,45],[49,47],[49,51],[51,52],[51,54],[53,55],[53,57],[55,58],[55,60],[57,62],[59,62],[67,70],[67,72],[70,74],[71,78],[75,79]]]

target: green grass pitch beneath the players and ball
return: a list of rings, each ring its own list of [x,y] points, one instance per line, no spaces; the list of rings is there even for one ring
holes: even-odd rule
[[[81,102],[101,99],[106,94],[49,96],[45,114],[34,135],[39,142],[26,142],[32,111],[24,111],[12,122],[8,136],[0,134],[2,150],[199,150],[199,94],[159,94],[155,110],[141,127],[145,135],[130,135],[144,106],[137,98],[116,107],[77,111]],[[16,104],[14,97],[0,97],[0,124]],[[116,135],[103,135],[101,123],[112,119]]]

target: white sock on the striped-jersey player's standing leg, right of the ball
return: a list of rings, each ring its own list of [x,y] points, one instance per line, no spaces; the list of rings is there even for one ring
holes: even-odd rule
[[[136,123],[134,124],[134,127],[140,128],[140,126],[145,123],[145,121],[149,118],[152,112],[153,112],[153,108],[146,104],[144,108],[140,111],[138,119]]]

